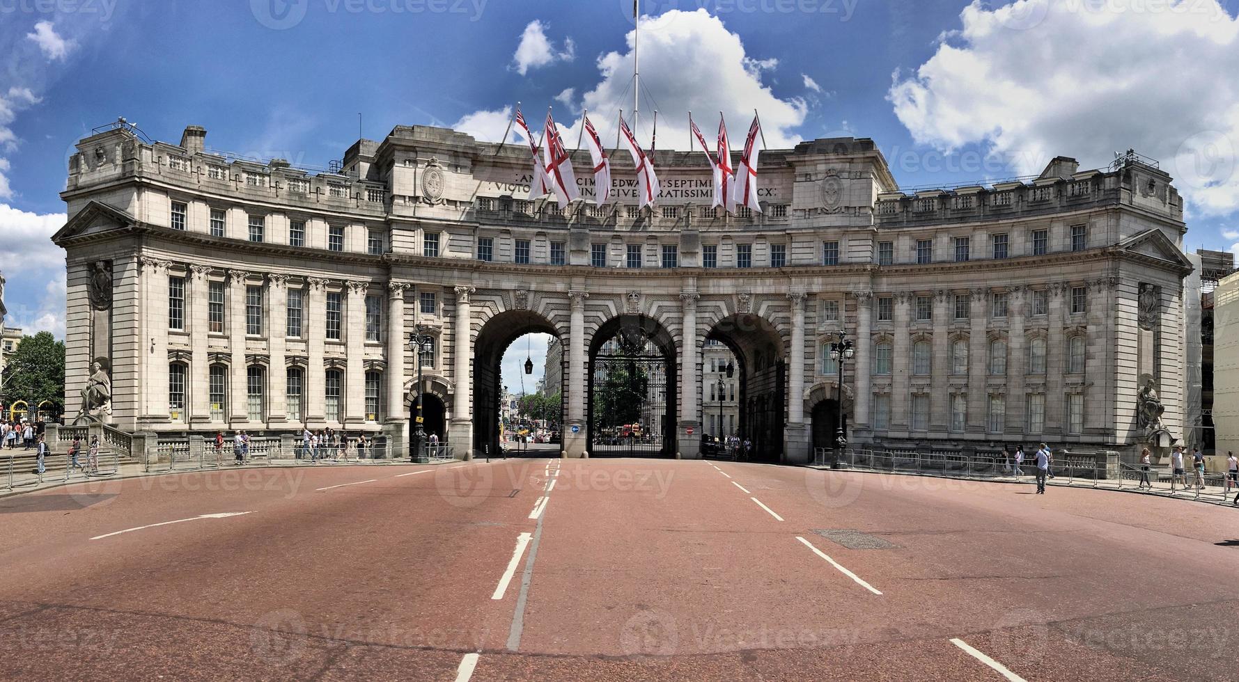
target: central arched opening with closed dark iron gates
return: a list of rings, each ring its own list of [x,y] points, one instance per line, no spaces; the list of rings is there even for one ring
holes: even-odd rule
[[[590,343],[591,457],[675,453],[675,342],[639,314],[607,321]]]

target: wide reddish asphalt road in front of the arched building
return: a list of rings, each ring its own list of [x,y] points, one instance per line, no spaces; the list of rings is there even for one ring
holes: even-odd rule
[[[1239,678],[1239,511],[1031,491],[633,459],[79,484],[0,499],[0,677],[1002,680],[958,637],[1012,680]]]

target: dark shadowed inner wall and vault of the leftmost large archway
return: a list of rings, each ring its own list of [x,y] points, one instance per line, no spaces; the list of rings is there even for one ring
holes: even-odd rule
[[[563,340],[559,330],[545,317],[533,311],[507,311],[488,319],[473,343],[473,451],[477,457],[486,457],[487,453],[494,455],[501,451],[503,354],[514,340],[529,333],[550,334]],[[560,373],[561,378],[566,375],[566,371]],[[462,387],[457,386],[456,390]],[[566,394],[561,385],[560,395]],[[560,413],[563,415],[563,400]]]

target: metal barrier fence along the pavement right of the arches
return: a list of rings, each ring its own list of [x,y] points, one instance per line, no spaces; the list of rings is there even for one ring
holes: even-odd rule
[[[831,467],[835,462],[833,448],[817,448],[814,465]],[[839,455],[840,469],[883,472],[907,475],[960,478],[970,480],[1017,480],[1032,483],[1036,479],[1036,458],[1025,455],[1017,464],[1015,458],[992,454],[966,455],[963,453],[921,453],[916,451],[872,451],[847,448]],[[1056,453],[1049,463],[1047,485],[1104,488],[1111,490],[1141,490],[1183,499],[1233,504],[1239,489],[1228,484],[1225,472],[1206,472],[1199,481],[1192,470],[1175,480],[1167,470],[1155,464],[1098,463],[1094,457]]]

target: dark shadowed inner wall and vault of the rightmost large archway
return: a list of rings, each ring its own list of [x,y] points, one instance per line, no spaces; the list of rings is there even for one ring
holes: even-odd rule
[[[719,321],[705,340],[722,343],[736,358],[736,431],[741,442],[748,444],[748,459],[781,460],[783,428],[787,425],[787,354],[783,337],[764,318],[740,313]]]

